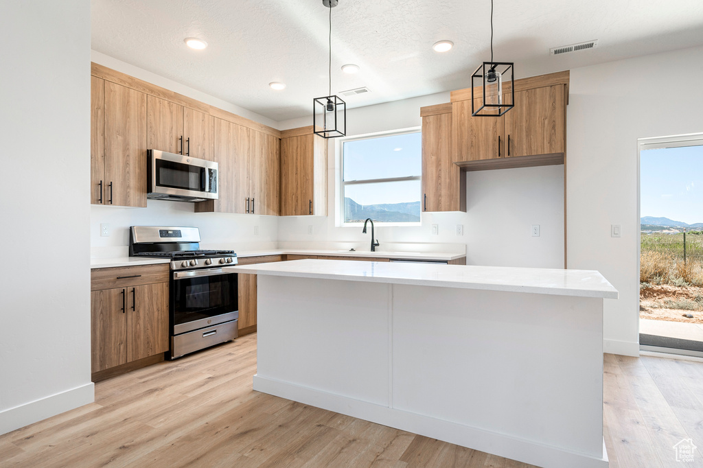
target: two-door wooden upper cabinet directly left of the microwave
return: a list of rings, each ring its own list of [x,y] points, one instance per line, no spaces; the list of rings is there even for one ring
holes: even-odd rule
[[[146,207],[146,94],[91,77],[91,203]]]

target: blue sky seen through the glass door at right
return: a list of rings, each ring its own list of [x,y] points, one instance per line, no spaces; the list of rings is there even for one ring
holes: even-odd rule
[[[640,153],[640,215],[703,223],[703,146]]]

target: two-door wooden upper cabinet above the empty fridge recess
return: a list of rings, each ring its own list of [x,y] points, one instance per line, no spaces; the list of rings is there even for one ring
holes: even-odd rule
[[[512,160],[508,165],[553,164],[559,158],[563,162],[568,86],[569,72],[517,79],[515,106],[501,117],[472,117],[471,89],[453,91],[452,138],[456,161],[530,156],[535,158]],[[475,103],[479,105],[478,100]]]

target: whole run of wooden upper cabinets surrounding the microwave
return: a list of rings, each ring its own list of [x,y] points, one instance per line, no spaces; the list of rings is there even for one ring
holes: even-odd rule
[[[91,75],[91,203],[146,207],[152,149],[219,163],[219,199],[196,212],[278,214],[280,131],[96,63]]]

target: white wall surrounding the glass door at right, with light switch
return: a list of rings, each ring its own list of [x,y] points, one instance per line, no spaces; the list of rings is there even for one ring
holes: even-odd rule
[[[672,70],[691,77],[674,84]],[[605,351],[638,353],[638,138],[703,131],[703,47],[571,71],[567,114],[567,261],[600,271]],[[622,237],[610,237],[610,225]]]

